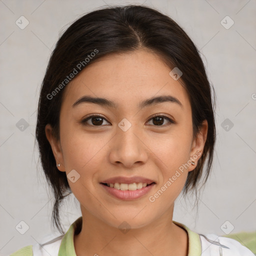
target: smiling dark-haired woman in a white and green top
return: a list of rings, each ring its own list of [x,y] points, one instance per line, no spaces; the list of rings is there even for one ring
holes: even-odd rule
[[[172,220],[179,193],[196,192],[211,169],[213,95],[197,48],[168,16],[127,5],[77,19],[49,60],[36,139],[55,226],[63,233],[58,206],[70,193],[82,216],[13,255],[252,256]]]

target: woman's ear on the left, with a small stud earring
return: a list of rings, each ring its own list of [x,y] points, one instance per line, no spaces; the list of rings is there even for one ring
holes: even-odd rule
[[[57,166],[57,168],[60,171],[65,171],[60,141],[57,140],[52,134],[52,127],[49,123],[45,125],[45,134],[50,143],[53,155],[55,157],[56,165],[60,163],[60,166]]]

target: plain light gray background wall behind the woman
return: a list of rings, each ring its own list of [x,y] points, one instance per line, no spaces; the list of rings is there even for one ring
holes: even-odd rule
[[[198,214],[189,200],[178,199],[173,219],[200,233],[223,235],[220,226],[226,220],[234,226],[232,233],[254,231],[256,1],[136,1],[143,2],[172,17],[188,33],[202,53],[217,95],[216,152]],[[52,233],[53,199],[36,166],[34,132],[39,87],[58,35],[85,12],[128,3],[132,1],[0,0],[0,255]],[[29,21],[24,29],[15,24],[21,15]],[[229,29],[221,24],[226,15],[234,21]],[[29,124],[23,131],[16,127],[21,118]],[[226,118],[233,123],[228,131],[221,126]],[[81,215],[74,199],[70,196],[62,208],[66,229]],[[21,220],[29,226],[23,235],[15,229]]]

